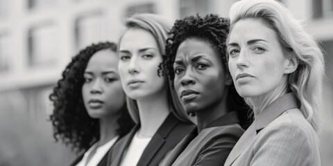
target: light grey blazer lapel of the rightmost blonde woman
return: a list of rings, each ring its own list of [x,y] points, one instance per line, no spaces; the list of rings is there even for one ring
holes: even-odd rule
[[[245,131],[243,136],[238,140],[237,144],[234,145],[234,148],[232,148],[232,151],[230,152],[227,160],[225,160],[225,166],[232,165],[234,163],[234,160],[236,160],[239,155],[248,147],[250,142],[252,142],[255,139],[255,136],[257,136],[257,133],[255,132],[255,122],[253,122],[250,127]]]

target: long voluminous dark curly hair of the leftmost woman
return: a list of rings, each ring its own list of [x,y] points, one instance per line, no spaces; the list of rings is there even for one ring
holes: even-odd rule
[[[84,83],[83,73],[90,57],[97,51],[106,49],[117,52],[117,45],[101,42],[80,50],[62,72],[62,79],[49,95],[54,107],[50,116],[54,130],[53,137],[57,142],[61,139],[65,145],[71,145],[76,151],[87,150],[99,140],[99,120],[88,115],[81,90]],[[128,114],[126,104],[121,113],[121,117],[117,120],[119,124],[117,133],[119,136],[124,136],[134,123]]]

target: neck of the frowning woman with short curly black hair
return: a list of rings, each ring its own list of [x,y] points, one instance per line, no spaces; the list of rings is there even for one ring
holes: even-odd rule
[[[196,111],[196,119],[198,125],[198,133],[205,129],[208,124],[214,122],[214,120],[220,118],[225,113],[228,112],[227,110],[227,95],[228,95],[228,88],[225,89],[225,93],[222,96],[222,100],[216,102],[209,107],[205,107],[205,109]]]

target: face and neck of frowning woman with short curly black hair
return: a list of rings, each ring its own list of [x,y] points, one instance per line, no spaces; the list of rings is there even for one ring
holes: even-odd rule
[[[173,71],[178,98],[187,113],[196,113],[199,133],[228,112],[226,87],[231,80],[210,42],[185,39],[177,50]]]

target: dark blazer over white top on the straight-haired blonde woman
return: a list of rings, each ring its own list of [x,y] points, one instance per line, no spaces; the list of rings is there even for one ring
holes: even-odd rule
[[[170,113],[160,128],[157,129],[146,149],[144,149],[137,166],[158,165],[160,160],[194,128],[194,124],[182,122],[173,116],[173,113]],[[114,144],[108,157],[108,166],[121,164],[121,160],[125,154],[124,152],[128,149],[138,129],[139,125],[136,125],[130,133]]]

